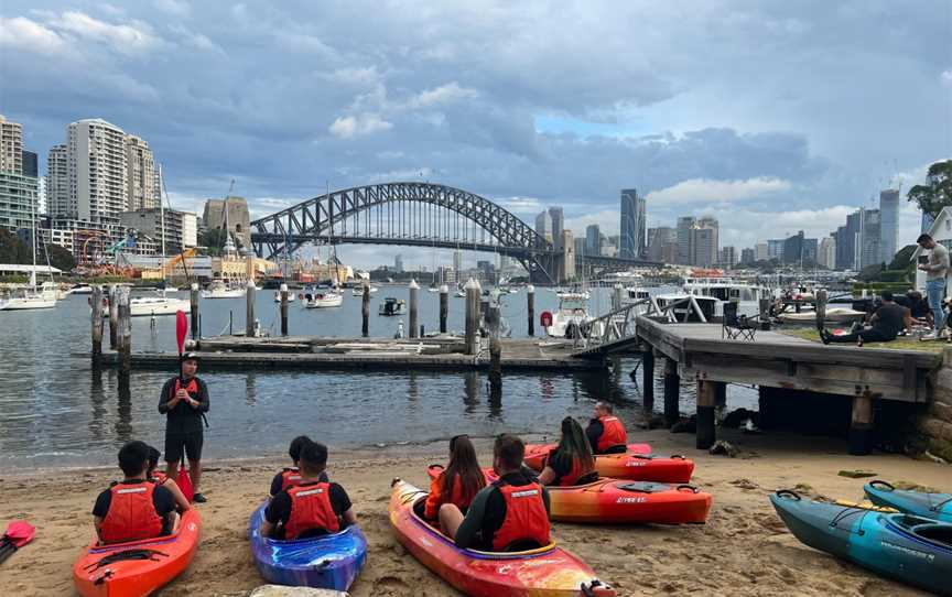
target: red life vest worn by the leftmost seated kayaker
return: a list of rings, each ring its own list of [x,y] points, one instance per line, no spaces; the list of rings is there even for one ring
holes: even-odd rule
[[[162,517],[152,502],[155,487],[152,481],[116,484],[110,487],[112,496],[109,511],[99,525],[99,539],[104,543],[125,543],[162,534]]]

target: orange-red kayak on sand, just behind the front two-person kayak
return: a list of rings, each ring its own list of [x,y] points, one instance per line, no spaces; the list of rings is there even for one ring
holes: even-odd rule
[[[441,465],[431,465],[426,473],[435,479],[442,470]],[[488,482],[497,479],[491,468],[483,473]],[[545,489],[549,518],[585,524],[697,524],[707,521],[712,502],[710,493],[690,485],[598,479]]]

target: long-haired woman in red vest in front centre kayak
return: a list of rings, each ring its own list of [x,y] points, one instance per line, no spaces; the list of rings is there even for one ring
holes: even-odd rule
[[[468,435],[457,435],[450,439],[450,464],[430,484],[430,495],[423,508],[423,518],[435,520],[440,507],[452,503],[465,514],[473,498],[486,487],[486,476],[476,459],[476,448]],[[446,532],[446,529],[443,529]]]

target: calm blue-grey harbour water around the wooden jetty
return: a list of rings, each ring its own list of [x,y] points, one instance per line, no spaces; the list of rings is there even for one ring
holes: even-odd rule
[[[592,311],[604,312],[610,291],[596,290]],[[273,291],[260,291],[256,315],[277,334],[280,319]],[[182,293],[181,296],[185,296]],[[371,298],[370,335],[390,337],[398,318],[379,317],[385,296],[408,297],[405,287],[381,287]],[[420,321],[439,328],[439,294],[420,292]],[[463,328],[463,300],[450,298],[451,329]],[[537,317],[554,308],[553,293],[537,291]],[[245,300],[202,302],[205,336],[245,326]],[[526,336],[526,294],[509,295],[504,308],[513,337]],[[403,318],[407,323],[407,318]],[[71,295],[55,310],[0,312],[0,468],[111,464],[130,438],[161,447],[164,416],[158,392],[174,371],[133,371],[131,395],[120,397],[115,371],[94,377],[86,295]],[[336,310],[290,308],[291,334],[358,336],[360,298],[349,291]],[[538,322],[537,322],[538,330]],[[108,338],[108,336],[107,336]],[[133,350],[174,350],[174,317],[132,319]],[[476,372],[207,372],[212,427],[206,456],[236,457],[282,453],[300,433],[331,446],[357,447],[399,442],[429,442],[457,433],[491,436],[501,432],[544,433],[559,428],[565,415],[585,419],[601,398],[616,402],[620,416],[641,420],[641,394],[629,378],[637,360],[625,359],[621,372],[586,375],[507,373],[502,399],[489,400],[487,379]],[[659,380],[660,381],[660,380]],[[732,406],[749,405],[749,391],[732,389]],[[682,390],[682,412],[693,410],[690,384]],[[656,409],[662,406],[660,386]]]

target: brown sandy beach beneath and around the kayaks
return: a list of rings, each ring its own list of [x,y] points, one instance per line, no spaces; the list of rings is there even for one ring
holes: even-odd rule
[[[723,437],[742,452],[736,458],[694,449],[694,436],[667,431],[634,432],[629,441],[649,442],[658,454],[695,459],[693,482],[714,496],[707,524],[696,527],[582,527],[555,523],[556,540],[585,560],[619,595],[924,595],[811,550],[787,532],[767,496],[798,484],[811,495],[858,499],[864,479],[837,476],[843,469],[877,473],[952,490],[952,469],[897,455],[853,457],[837,441],[771,434]],[[541,437],[536,437],[539,439]],[[477,442],[489,463],[491,445]],[[339,452],[332,447],[328,470],[349,492],[369,556],[351,595],[458,595],[407,554],[387,515],[389,481],[402,477],[426,487],[425,466],[445,460],[444,443]],[[199,504],[202,544],[188,571],[164,596],[242,595],[263,580],[245,536],[248,515],[267,493],[280,458],[209,462]],[[96,495],[118,469],[69,469],[0,474],[0,523],[26,519],[37,528],[32,544],[0,568],[4,595],[74,595],[72,564],[91,535]],[[809,486],[809,488],[804,487]]]

